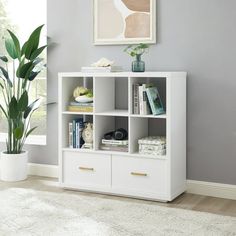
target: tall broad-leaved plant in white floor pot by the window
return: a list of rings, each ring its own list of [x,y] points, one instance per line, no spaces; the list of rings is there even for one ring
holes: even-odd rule
[[[27,178],[28,152],[24,150],[26,138],[36,129],[30,127],[30,118],[39,107],[40,99],[29,103],[30,84],[44,66],[40,55],[46,46],[39,47],[43,25],[36,28],[21,46],[16,35],[8,30],[5,39],[8,56],[0,56],[0,111],[8,124],[6,150],[1,152],[0,177],[4,181],[21,181]],[[12,64],[12,72],[9,66]]]

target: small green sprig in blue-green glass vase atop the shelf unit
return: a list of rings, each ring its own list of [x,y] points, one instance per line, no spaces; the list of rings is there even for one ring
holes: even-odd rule
[[[133,72],[144,72],[145,62],[141,60],[141,56],[147,52],[149,45],[140,43],[138,45],[129,45],[125,48],[124,52],[128,53],[131,57],[136,57],[136,60],[132,62]]]

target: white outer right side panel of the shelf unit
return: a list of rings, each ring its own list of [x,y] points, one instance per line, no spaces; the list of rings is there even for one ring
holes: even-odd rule
[[[186,76],[172,77],[169,87],[170,180],[171,196],[186,189]]]

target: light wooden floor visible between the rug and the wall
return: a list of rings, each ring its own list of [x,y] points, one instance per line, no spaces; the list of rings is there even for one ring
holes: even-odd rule
[[[36,177],[36,176],[31,176],[26,181],[22,181],[18,183],[0,182],[0,190],[4,188],[10,188],[10,187],[44,189],[47,191],[53,191],[53,192],[58,192],[58,193],[63,192],[63,191],[68,191],[68,190],[59,188],[56,179],[42,178],[42,177]],[[98,195],[95,193],[84,193],[84,192],[78,192],[78,194]],[[138,200],[138,199],[108,196],[108,195],[100,195],[100,196],[103,198],[117,198],[123,201],[136,201],[136,202],[143,201],[143,200]],[[1,192],[0,192],[0,197],[1,197]],[[166,207],[181,208],[181,209],[188,209],[188,210],[193,210],[193,211],[209,212],[209,213],[214,213],[218,215],[227,215],[227,216],[236,217],[236,201],[223,199],[223,198],[206,197],[206,196],[201,196],[201,195],[184,193],[171,203],[159,203],[159,202],[152,202],[152,201],[145,201],[145,202],[148,204],[157,204],[157,205],[162,205]]]

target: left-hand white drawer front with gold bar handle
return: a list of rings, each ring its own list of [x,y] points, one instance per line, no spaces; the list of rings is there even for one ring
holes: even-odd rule
[[[64,152],[63,182],[73,186],[111,187],[111,156]]]

